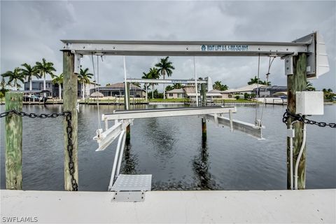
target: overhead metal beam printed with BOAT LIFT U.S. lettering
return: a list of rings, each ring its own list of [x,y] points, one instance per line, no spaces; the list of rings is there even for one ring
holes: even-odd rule
[[[62,50],[80,55],[269,56],[309,52],[310,43],[240,41],[85,41],[62,40]]]

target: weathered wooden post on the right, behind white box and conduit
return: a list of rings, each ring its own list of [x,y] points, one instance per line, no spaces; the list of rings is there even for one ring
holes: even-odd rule
[[[296,110],[296,91],[304,91],[307,88],[307,55],[300,53],[293,56],[293,75],[287,76],[287,109],[290,113]],[[287,128],[293,120],[288,119]],[[297,156],[299,155],[303,139],[303,123],[297,122],[293,125],[295,137],[293,139],[293,173]],[[287,189],[290,189],[290,138],[287,138]],[[307,144],[306,144],[307,145]],[[294,175],[294,174],[293,174]],[[297,172],[297,189],[305,188],[306,179],[306,148],[304,147]],[[295,179],[295,176],[294,176]]]

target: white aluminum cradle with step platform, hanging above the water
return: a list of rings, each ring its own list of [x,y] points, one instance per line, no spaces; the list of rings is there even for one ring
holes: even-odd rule
[[[103,151],[118,136],[116,155],[113,162],[109,191],[115,192],[113,200],[116,201],[143,201],[145,192],[151,190],[151,174],[145,175],[124,175],[120,174],[120,166],[125,148],[125,130],[127,125],[133,123],[134,119],[141,118],[167,118],[176,116],[199,116],[207,120],[212,120],[216,125],[228,126],[230,131],[239,130],[246,132],[252,137],[262,139],[262,128],[253,124],[244,123],[232,119],[232,113],[236,113],[236,107],[224,106],[203,106],[203,107],[184,107],[171,109],[146,109],[133,111],[113,111],[111,114],[103,114],[102,121],[105,123],[105,130],[97,131],[93,138],[99,144],[96,151]],[[229,118],[223,115],[228,113]],[[114,125],[109,127],[109,120],[114,120]]]

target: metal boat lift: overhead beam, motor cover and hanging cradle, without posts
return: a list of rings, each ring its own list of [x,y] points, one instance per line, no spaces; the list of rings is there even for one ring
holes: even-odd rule
[[[80,58],[83,55],[138,55],[138,56],[261,56],[281,57],[285,59],[285,74],[293,74],[293,56],[298,53],[307,54],[307,78],[318,78],[329,71],[328,57],[325,52],[325,45],[318,32],[314,32],[293,42],[237,42],[237,41],[87,41],[87,40],[62,40],[63,51],[71,52],[74,55],[73,73],[80,71]],[[124,57],[125,68],[125,57]],[[125,83],[137,81],[128,79],[125,71]],[[144,80],[148,83],[152,80]],[[179,80],[176,80],[179,82]],[[195,80],[196,81],[196,80]],[[205,80],[204,80],[205,81]],[[153,80],[158,83],[158,80]],[[162,80],[162,82],[173,82],[173,80]],[[126,87],[127,85],[125,85]],[[125,128],[137,118],[158,118],[167,116],[201,116],[207,120],[214,120],[218,125],[228,125],[230,130],[246,132],[254,137],[262,137],[262,127],[243,123],[232,119],[235,107],[198,107],[191,109],[150,109],[141,111],[113,111],[112,114],[105,114],[102,120],[105,122],[105,131],[97,130],[99,148],[104,150],[106,146],[119,136],[116,157],[113,164],[109,190],[116,193],[113,198],[117,201],[141,201],[144,200],[144,191],[151,190],[148,181],[151,183],[151,175],[144,175],[137,179],[127,188],[123,183],[123,175],[119,175],[120,164],[125,146]],[[223,117],[223,113],[229,113],[230,118]],[[114,120],[115,124],[109,128],[108,121]],[[115,181],[115,179],[117,180]],[[131,176],[131,179],[133,177]],[[121,181],[118,181],[121,180]],[[130,181],[129,179],[126,180]],[[132,182],[132,181],[131,181]],[[132,187],[133,186],[133,187]],[[128,189],[128,190],[123,190]],[[119,193],[119,194],[118,194]],[[118,196],[117,196],[118,195]]]

